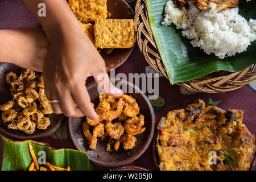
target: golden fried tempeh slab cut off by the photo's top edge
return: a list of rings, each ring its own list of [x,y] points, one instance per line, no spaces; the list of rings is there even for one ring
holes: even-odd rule
[[[108,16],[107,0],[69,0],[68,4],[83,23],[94,22],[97,19],[106,19]]]

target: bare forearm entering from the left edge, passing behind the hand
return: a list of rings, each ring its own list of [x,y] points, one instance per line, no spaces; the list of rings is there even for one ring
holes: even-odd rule
[[[48,40],[43,30],[0,30],[0,61],[42,71]]]

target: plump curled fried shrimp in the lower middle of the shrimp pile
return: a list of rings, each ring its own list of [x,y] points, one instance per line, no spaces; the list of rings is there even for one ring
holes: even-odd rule
[[[118,140],[125,132],[123,124],[119,121],[115,123],[112,123],[111,121],[106,121],[105,125],[106,131],[108,132],[109,136],[113,139]]]

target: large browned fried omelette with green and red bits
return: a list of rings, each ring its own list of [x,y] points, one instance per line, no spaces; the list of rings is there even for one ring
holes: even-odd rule
[[[197,100],[158,123],[161,170],[248,170],[255,137],[242,123],[243,111],[221,111]]]

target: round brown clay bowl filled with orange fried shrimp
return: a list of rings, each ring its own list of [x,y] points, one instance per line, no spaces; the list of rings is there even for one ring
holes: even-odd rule
[[[88,154],[91,162],[102,167],[125,166],[138,159],[154,135],[155,115],[148,98],[130,82],[115,84],[133,90],[114,98],[98,92],[97,84],[87,85],[90,100],[100,121],[69,118],[68,128],[73,144]]]

